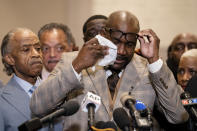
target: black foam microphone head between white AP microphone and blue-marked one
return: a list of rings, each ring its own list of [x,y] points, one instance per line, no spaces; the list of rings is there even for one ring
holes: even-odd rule
[[[116,108],[113,112],[113,118],[120,129],[130,126],[129,116],[123,108]]]

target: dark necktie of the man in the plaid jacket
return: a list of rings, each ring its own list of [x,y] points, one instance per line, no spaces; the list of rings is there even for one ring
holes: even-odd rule
[[[107,78],[107,83],[108,83],[108,86],[109,86],[111,97],[113,99],[115,88],[116,88],[116,85],[117,85],[118,80],[119,80],[118,74],[119,74],[120,71],[117,72],[117,71],[111,70],[111,72],[112,72],[112,74]]]

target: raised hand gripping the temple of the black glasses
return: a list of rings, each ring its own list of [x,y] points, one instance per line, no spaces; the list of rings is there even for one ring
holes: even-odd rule
[[[142,30],[138,33],[140,41],[140,52],[151,64],[159,59],[160,39],[151,29]],[[146,41],[147,39],[147,41]]]

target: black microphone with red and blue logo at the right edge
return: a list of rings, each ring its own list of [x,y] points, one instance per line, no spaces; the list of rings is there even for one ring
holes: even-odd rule
[[[181,97],[181,99],[192,99],[191,96],[190,96],[190,94],[188,92],[183,92],[180,97]],[[188,102],[190,102],[191,104],[188,104],[185,107],[185,109],[189,112],[189,114],[191,115],[191,117],[196,121],[197,120],[197,111],[196,111],[196,108],[194,108],[194,106],[192,106],[193,105],[192,104],[192,102],[193,102],[192,100],[191,101],[188,100]]]

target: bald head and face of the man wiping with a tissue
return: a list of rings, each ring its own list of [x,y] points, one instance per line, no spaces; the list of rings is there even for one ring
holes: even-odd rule
[[[112,69],[120,71],[131,61],[139,30],[139,21],[130,12],[116,11],[109,16],[104,36],[117,46],[117,57]]]

